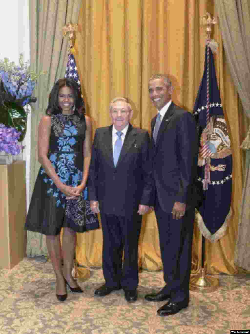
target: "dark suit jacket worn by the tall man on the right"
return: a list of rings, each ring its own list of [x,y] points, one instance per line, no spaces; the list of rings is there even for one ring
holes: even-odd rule
[[[156,117],[151,122],[151,155],[155,187],[161,208],[170,213],[175,201],[195,206],[198,135],[191,113],[173,102],[164,115],[156,143]]]

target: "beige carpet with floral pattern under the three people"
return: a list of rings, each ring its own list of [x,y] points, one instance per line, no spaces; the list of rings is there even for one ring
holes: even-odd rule
[[[250,329],[250,275],[218,276],[219,288],[209,294],[191,292],[189,307],[159,317],[165,302],[144,299],[163,286],[162,272],[140,273],[138,300],[128,304],[122,290],[96,297],[103,283],[101,269],[79,282],[83,294],[68,290],[65,302],[55,297],[51,263],[24,259],[12,270],[0,270],[0,333],[36,334],[229,334]]]

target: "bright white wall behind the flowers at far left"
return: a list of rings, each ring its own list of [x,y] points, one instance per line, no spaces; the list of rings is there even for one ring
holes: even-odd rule
[[[3,10],[4,7],[4,10]],[[19,54],[24,54],[24,60],[30,56],[29,42],[29,0],[4,1],[1,10],[0,59],[7,57],[18,64]],[[10,15],[11,14],[11,15]],[[18,159],[26,160],[27,208],[29,205],[29,170],[30,170],[30,117],[26,137],[23,141],[25,149]]]

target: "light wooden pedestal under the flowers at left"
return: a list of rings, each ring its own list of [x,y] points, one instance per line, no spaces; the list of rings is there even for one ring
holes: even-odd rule
[[[0,165],[0,268],[11,269],[25,257],[25,161]]]

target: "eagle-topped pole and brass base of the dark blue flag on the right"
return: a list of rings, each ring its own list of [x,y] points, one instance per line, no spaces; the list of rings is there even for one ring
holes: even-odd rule
[[[211,40],[211,31],[212,25],[217,24],[217,20],[212,18],[210,13],[205,13],[201,18],[201,25],[206,27],[207,40],[208,44]],[[208,61],[208,60],[207,60]],[[209,90],[207,92],[207,124],[209,122]],[[208,158],[209,159],[209,158]],[[210,182],[210,171],[208,161],[205,165],[205,180],[203,187],[207,190],[208,183]],[[205,237],[202,235],[201,241],[201,270],[198,275],[191,275],[189,289],[191,291],[201,291],[201,292],[212,292],[215,291],[219,286],[219,280],[214,277],[208,277],[206,275],[205,269]]]

